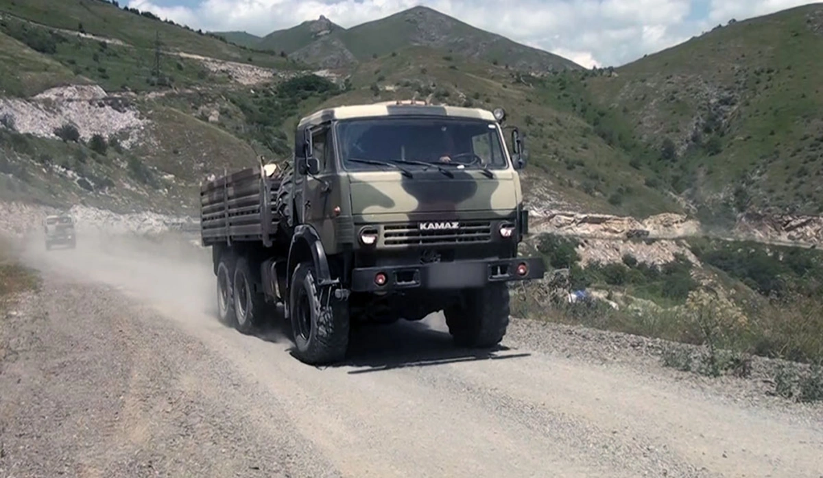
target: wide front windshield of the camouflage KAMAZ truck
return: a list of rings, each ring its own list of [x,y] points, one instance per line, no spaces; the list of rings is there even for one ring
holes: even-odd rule
[[[346,169],[380,168],[378,164],[363,160],[463,165],[466,168],[506,168],[497,126],[482,120],[348,120],[337,123],[337,137]]]

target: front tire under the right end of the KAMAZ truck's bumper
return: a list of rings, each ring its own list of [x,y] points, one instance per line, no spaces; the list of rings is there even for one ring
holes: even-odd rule
[[[491,283],[467,289],[461,301],[444,310],[455,345],[470,348],[495,347],[509,327],[509,287]]]

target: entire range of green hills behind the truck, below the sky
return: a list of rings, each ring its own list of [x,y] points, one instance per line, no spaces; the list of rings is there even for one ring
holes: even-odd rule
[[[491,46],[504,48],[509,40],[423,7],[347,30],[322,17],[269,35],[293,50],[286,59],[285,49],[251,51],[107,2],[61,3],[56,11],[44,4],[0,4],[13,10],[0,21],[0,117],[6,125],[0,147],[8,152],[4,168],[15,178],[16,196],[26,189],[20,184],[25,173],[9,171],[28,165],[30,177],[44,174],[42,152],[72,158],[81,148],[96,158],[96,134],[123,152],[109,148],[108,159],[100,158],[103,164],[89,174],[123,178],[129,186],[112,191],[142,188],[144,198],[157,187],[167,191],[166,199],[153,198],[153,205],[190,209],[193,188],[208,173],[248,165],[261,154],[287,158],[300,115],[324,105],[417,97],[506,108],[509,123],[521,126],[527,140],[530,167],[523,182],[536,213],[686,212],[728,230],[744,212],[746,221],[767,224],[775,212],[817,214],[823,204],[813,181],[823,152],[816,108],[823,73],[814,67],[823,50],[819,5],[734,22],[617,69],[537,76],[514,61],[495,64]],[[88,11],[95,13],[90,19]],[[383,38],[381,31],[414,39],[444,30],[452,33],[430,36],[430,44],[356,41]],[[154,71],[157,32],[160,77]],[[482,44],[483,38],[488,48],[449,43]],[[295,62],[333,51],[351,60],[333,75],[312,75],[328,64]],[[534,54],[523,61],[552,57]],[[66,98],[73,94],[66,85],[101,90],[83,90],[95,93],[78,101]],[[78,107],[82,102],[93,108]],[[95,122],[98,113],[109,121]],[[58,140],[54,131],[69,123],[80,137]],[[129,158],[164,182],[140,182],[137,166],[133,174],[114,171]],[[106,166],[108,160],[114,166]],[[83,176],[81,168],[75,165],[72,174]],[[29,186],[28,196],[49,196],[42,182]],[[71,188],[65,195],[71,200],[89,192]]]

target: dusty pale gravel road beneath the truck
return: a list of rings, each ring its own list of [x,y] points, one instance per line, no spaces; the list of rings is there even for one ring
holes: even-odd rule
[[[25,259],[44,287],[0,318],[0,476],[823,476],[823,407],[631,339],[514,320],[474,353],[432,316],[314,368],[217,322],[208,255],[81,237]]]

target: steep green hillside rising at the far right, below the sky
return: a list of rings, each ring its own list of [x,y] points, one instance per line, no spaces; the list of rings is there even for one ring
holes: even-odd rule
[[[823,212],[823,4],[731,21],[616,74],[578,78],[644,166],[707,222]],[[556,81],[562,81],[558,79]]]

